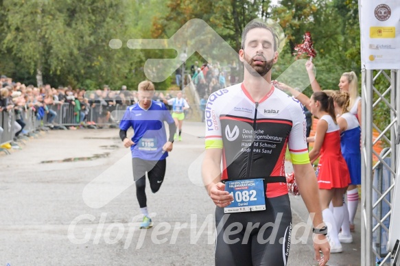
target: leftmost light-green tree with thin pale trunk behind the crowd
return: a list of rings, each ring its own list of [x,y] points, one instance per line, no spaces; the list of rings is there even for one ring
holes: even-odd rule
[[[5,1],[3,5],[7,29],[3,47],[36,71],[38,86],[43,84],[45,60],[51,63],[51,71],[59,71],[75,48],[73,33],[64,27],[67,17],[59,10],[58,1]]]

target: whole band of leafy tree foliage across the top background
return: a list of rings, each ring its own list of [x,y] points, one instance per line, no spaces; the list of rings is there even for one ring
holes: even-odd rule
[[[136,88],[145,79],[147,58],[171,58],[176,53],[132,50],[126,41],[169,38],[194,18],[206,21],[236,51],[246,23],[256,18],[278,21],[287,45],[274,66],[276,76],[294,62],[294,46],[306,31],[318,53],[314,64],[322,88],[338,88],[342,72],[360,75],[356,0],[282,0],[278,5],[271,0],[8,0],[1,1],[0,8],[1,72],[27,84],[36,84],[40,70],[43,82],[54,86]],[[120,39],[122,47],[111,49],[111,39]],[[187,65],[195,60],[203,59],[192,56]],[[165,89],[171,83],[169,78],[156,86]]]

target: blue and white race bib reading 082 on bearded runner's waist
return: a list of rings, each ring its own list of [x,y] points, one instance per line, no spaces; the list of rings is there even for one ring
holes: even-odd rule
[[[261,178],[225,182],[225,191],[233,196],[233,202],[224,213],[242,213],[266,209],[266,196]]]

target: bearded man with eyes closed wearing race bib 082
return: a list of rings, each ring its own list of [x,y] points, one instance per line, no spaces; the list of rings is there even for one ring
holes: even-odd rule
[[[202,176],[216,205],[215,265],[286,265],[292,230],[287,146],[298,189],[312,214],[316,259],[320,265],[329,260],[303,108],[271,84],[278,45],[272,28],[255,21],[246,25],[239,51],[243,83],[218,90],[207,102]]]

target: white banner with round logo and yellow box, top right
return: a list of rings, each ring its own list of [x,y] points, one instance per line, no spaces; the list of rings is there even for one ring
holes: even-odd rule
[[[358,3],[362,68],[400,69],[400,0]]]

